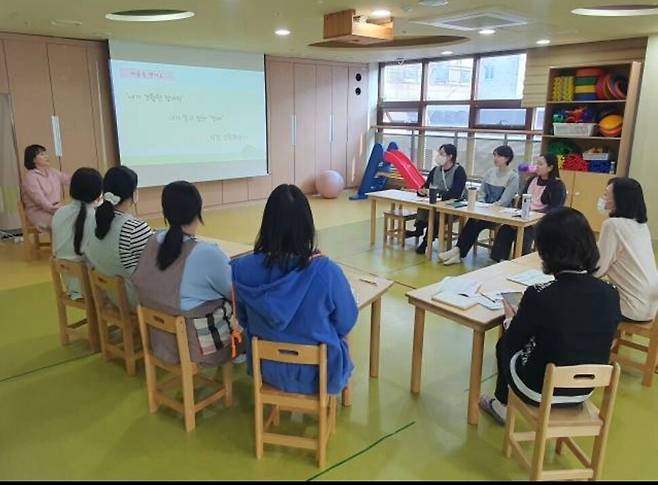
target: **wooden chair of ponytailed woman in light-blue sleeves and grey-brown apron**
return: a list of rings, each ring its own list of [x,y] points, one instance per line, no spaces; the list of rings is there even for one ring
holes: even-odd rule
[[[142,336],[144,351],[144,368],[146,370],[146,390],[149,412],[155,413],[160,405],[167,406],[179,412],[185,418],[185,430],[192,431],[196,426],[196,413],[224,398],[226,406],[233,399],[232,362],[222,366],[222,381],[205,376],[199,366],[190,360],[190,349],[187,341],[185,318],[168,315],[147,307],[137,307],[139,331]],[[149,329],[155,328],[176,336],[178,343],[178,364],[169,364],[158,359],[151,349]],[[173,377],[158,383],[157,368],[163,369]],[[199,402],[194,400],[196,384],[204,384],[213,389],[212,394]],[[180,382],[180,384],[179,384]],[[200,386],[198,386],[200,387]],[[168,396],[165,391],[182,388],[183,401]]]

